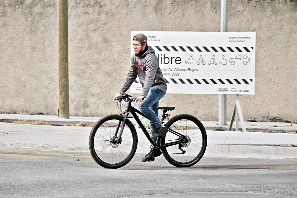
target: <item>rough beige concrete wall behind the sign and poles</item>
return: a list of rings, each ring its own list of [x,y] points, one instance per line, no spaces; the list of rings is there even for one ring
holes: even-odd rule
[[[219,0],[69,0],[71,116],[118,113],[114,95],[130,62],[130,31],[219,31]],[[0,1],[0,112],[57,114],[57,0]],[[228,31],[256,31],[256,94],[245,120],[297,122],[297,2],[229,0]],[[218,120],[218,95],[166,94],[172,114]],[[227,120],[235,96],[227,96]]]

